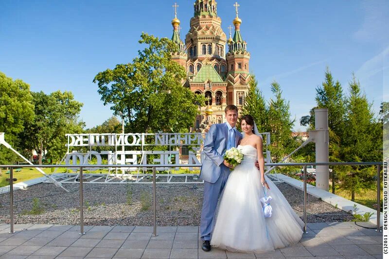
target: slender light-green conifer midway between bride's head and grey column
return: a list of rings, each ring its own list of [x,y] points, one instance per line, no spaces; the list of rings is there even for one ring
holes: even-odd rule
[[[290,105],[282,97],[280,84],[271,83],[271,91],[274,98],[269,101],[269,128],[271,133],[270,152],[273,162],[278,162],[297,147],[297,142],[292,137],[292,128],[295,119],[290,119]]]

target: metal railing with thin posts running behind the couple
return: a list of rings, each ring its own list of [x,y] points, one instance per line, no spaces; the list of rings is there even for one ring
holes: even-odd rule
[[[382,162],[320,162],[320,163],[315,163],[315,162],[308,162],[308,163],[267,163],[265,166],[302,166],[303,167],[303,191],[304,191],[304,196],[303,196],[303,221],[304,221],[304,229],[303,233],[306,234],[307,231],[307,166],[308,165],[376,165],[377,166],[377,228],[376,231],[381,232],[380,230],[380,212],[381,212],[381,166]],[[40,167],[40,168],[53,168],[53,167],[58,167],[58,168],[74,168],[78,167],[79,168],[79,190],[80,190],[80,235],[84,235],[84,193],[83,193],[83,171],[84,168],[112,168],[112,167],[142,167],[142,168],[152,168],[153,170],[153,223],[154,223],[154,230],[153,230],[153,236],[158,236],[157,235],[157,195],[156,195],[156,168],[157,167],[200,167],[198,164],[149,164],[149,165],[140,165],[140,164],[135,164],[135,165],[0,165],[0,167],[8,167],[10,168],[10,174],[9,174],[9,188],[10,188],[10,234],[15,233],[14,231],[14,190],[13,190],[13,181],[14,181],[14,168],[35,168],[35,167]]]

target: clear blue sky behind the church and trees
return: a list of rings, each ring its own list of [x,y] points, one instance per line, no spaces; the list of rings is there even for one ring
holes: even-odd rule
[[[32,91],[71,91],[84,103],[87,127],[112,115],[97,93],[94,76],[129,63],[141,48],[141,32],[171,37],[177,2],[181,38],[189,30],[195,0],[2,0],[0,71]],[[235,0],[218,0],[228,35]],[[265,98],[276,80],[290,101],[295,130],[315,106],[326,66],[347,93],[352,72],[375,113],[389,100],[389,1],[239,1],[241,32],[251,53],[250,72]]]

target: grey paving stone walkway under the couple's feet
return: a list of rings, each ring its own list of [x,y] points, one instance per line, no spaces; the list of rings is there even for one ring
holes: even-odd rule
[[[373,227],[373,226],[371,226]],[[374,259],[382,258],[382,233],[353,222],[308,224],[296,245],[266,254],[230,253],[213,248],[201,250],[198,227],[0,225],[0,259],[82,258],[274,258],[274,259]]]

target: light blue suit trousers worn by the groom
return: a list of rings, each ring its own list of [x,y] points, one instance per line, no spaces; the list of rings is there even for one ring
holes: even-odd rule
[[[230,175],[230,169],[224,165],[221,166],[223,167],[223,170],[216,182],[210,183],[204,181],[204,200],[200,220],[200,234],[203,241],[211,240],[211,232],[216,223],[215,212],[217,201]]]

